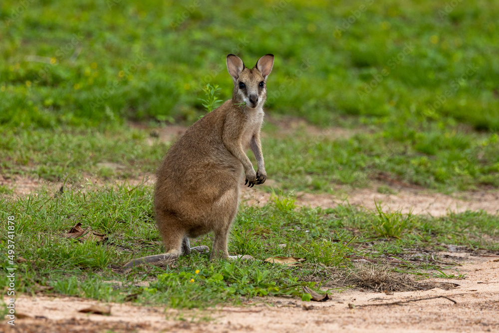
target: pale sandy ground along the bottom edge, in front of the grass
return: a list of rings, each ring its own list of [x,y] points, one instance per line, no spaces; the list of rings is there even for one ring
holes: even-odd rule
[[[499,256],[466,259],[474,263],[460,267],[467,274],[465,280],[434,279],[457,283],[457,289],[393,295],[350,289],[332,292],[331,299],[322,303],[266,298],[251,300],[245,307],[205,311],[112,303],[108,304],[111,315],[102,316],[78,312],[97,301],[22,295],[16,299],[16,311],[27,317],[16,319],[13,328],[3,322],[0,331],[498,332]],[[437,298],[442,296],[447,298]],[[419,300],[426,298],[433,299]],[[387,305],[396,302],[400,303]]]

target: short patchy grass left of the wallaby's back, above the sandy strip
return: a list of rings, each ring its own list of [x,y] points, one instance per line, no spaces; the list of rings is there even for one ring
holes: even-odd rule
[[[47,131],[4,128],[0,168],[4,174],[47,180],[81,181],[82,173],[101,178],[137,177],[154,172],[170,142],[144,130],[66,128]],[[83,177],[84,178],[84,177]]]

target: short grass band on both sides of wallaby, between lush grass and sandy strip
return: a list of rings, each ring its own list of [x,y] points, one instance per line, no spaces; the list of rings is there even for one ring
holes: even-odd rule
[[[459,132],[445,124],[421,127],[402,132],[371,124],[363,133],[333,140],[302,131],[283,138],[275,134],[275,125],[267,124],[262,139],[266,169],[278,188],[295,191],[334,192],[336,184],[368,187],[380,175],[444,193],[499,187],[497,134]],[[69,183],[91,175],[110,179],[153,173],[172,143],[155,135],[161,131],[156,126],[0,128],[3,174]],[[438,149],[431,155],[421,146]]]

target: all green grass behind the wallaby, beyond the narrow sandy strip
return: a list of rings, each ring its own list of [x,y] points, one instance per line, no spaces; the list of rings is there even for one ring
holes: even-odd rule
[[[4,0],[0,168],[49,180],[102,161],[124,164],[125,176],[153,172],[168,142],[98,133],[189,125],[206,112],[207,83],[230,98],[228,53],[248,66],[273,53],[270,117],[356,133],[283,141],[267,124],[267,170],[284,188],[380,177],[444,192],[498,187],[498,17],[497,0]]]

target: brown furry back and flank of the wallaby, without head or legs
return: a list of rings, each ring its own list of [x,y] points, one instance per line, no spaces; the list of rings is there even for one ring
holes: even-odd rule
[[[172,145],[157,173],[156,212],[167,209],[181,221],[203,224],[214,202],[228,190],[239,189],[243,166],[223,142],[225,118],[232,107],[237,106],[226,101]]]

